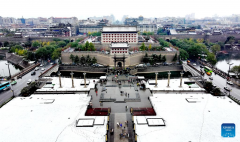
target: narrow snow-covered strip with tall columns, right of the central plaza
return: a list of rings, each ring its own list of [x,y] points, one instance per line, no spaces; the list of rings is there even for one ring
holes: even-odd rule
[[[152,91],[204,91],[205,89],[199,87],[196,83],[194,83],[194,87],[190,88],[188,84],[185,82],[194,82],[189,80],[188,78],[182,79],[182,87],[180,86],[180,79],[170,79],[169,87],[168,80],[157,80],[157,87],[155,87],[155,80],[149,80],[146,84],[146,88],[149,88]]]

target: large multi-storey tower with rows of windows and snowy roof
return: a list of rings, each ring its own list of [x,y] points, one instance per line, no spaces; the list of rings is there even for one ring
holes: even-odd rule
[[[110,44],[112,42],[138,43],[138,31],[136,26],[108,26],[103,27],[101,43]]]

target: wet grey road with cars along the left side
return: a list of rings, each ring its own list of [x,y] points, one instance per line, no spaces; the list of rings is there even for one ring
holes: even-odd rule
[[[50,65],[50,64],[46,64],[46,65],[44,65],[43,68],[45,68],[45,70],[47,70],[51,66],[52,65]],[[16,97],[19,96],[22,88],[27,86],[28,79],[31,79],[32,81],[34,81],[35,79],[38,79],[38,76],[41,74],[41,72],[44,72],[44,71],[41,71],[41,68],[42,67],[39,67],[39,70],[36,71],[35,75],[31,75],[31,72],[29,72],[28,74],[24,75],[21,79],[17,79],[16,80],[17,84],[11,86],[13,92],[11,90],[0,92],[0,105],[2,105],[5,101],[10,99],[13,96],[13,94]]]

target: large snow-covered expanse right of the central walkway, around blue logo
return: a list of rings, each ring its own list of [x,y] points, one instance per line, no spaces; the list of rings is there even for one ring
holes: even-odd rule
[[[190,98],[195,101],[187,101]],[[139,142],[240,141],[240,131],[238,130],[236,130],[234,138],[221,136],[222,123],[240,125],[239,105],[228,97],[214,97],[204,93],[165,93],[153,94],[150,101],[157,115],[134,117],[137,141]],[[152,123],[146,123],[149,118],[162,118],[164,123],[155,121],[153,124],[156,123],[160,126],[151,126],[149,124]]]

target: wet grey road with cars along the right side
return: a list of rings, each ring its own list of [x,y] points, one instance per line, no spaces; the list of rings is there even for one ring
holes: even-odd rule
[[[200,70],[200,64],[196,63],[197,65],[195,66],[198,70]],[[212,73],[213,80],[209,79],[209,76],[207,74],[204,74],[204,79],[207,79],[207,81],[212,82],[215,84],[217,87],[221,89],[222,92],[227,92],[227,95],[232,95],[238,100],[240,100],[240,87],[237,85],[229,85],[227,84],[227,80],[222,78],[221,76],[215,74],[214,72]],[[230,92],[226,91],[224,87],[227,86],[228,88],[232,89]]]

